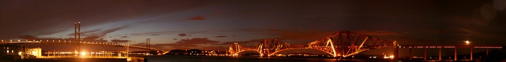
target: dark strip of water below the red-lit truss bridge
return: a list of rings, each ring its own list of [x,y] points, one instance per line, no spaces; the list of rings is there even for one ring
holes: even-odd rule
[[[149,62],[366,62],[393,60],[333,59],[333,58],[291,58],[259,56],[191,56],[191,55],[151,55],[144,56]]]

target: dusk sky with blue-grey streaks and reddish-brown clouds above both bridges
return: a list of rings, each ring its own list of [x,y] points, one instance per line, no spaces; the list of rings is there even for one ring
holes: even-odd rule
[[[0,0],[0,39],[71,39],[81,22],[83,40],[144,46],[150,37],[167,50],[307,44],[337,31],[402,45],[504,45],[505,9],[506,0]]]

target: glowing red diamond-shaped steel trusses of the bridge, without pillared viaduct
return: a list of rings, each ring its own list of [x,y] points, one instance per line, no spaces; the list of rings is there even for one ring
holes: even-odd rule
[[[264,41],[250,48],[243,47],[239,43],[233,43],[227,51],[232,55],[238,55],[238,53],[242,51],[254,50],[259,52],[261,55],[271,56],[284,50],[306,48],[324,51],[334,57],[346,57],[370,49],[397,45],[394,43],[397,42],[350,31],[341,31],[310,42],[307,45],[290,45],[289,43],[282,42],[278,39],[269,38],[264,39]]]

